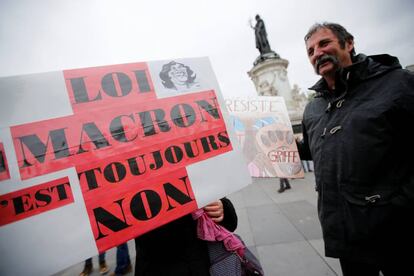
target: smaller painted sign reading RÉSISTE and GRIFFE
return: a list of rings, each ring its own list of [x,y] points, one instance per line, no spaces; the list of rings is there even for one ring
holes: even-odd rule
[[[283,97],[238,97],[225,102],[251,176],[304,177]]]

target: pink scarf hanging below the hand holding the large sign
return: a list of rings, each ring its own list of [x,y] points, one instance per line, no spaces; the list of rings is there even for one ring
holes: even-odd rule
[[[239,256],[244,256],[243,243],[229,230],[215,223],[203,209],[198,209],[192,214],[197,220],[197,236],[205,241],[222,241],[227,251],[235,251]]]

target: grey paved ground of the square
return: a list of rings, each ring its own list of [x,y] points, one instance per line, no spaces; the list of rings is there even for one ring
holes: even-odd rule
[[[252,185],[230,195],[239,216],[236,233],[259,257],[266,275],[341,276],[339,262],[323,257],[313,174],[290,182],[292,189],[279,194],[279,179],[256,178]],[[134,261],[133,241],[128,245]],[[114,249],[106,259],[113,271]],[[97,268],[97,257],[93,263]],[[82,263],[77,264],[56,275],[78,275],[82,268]],[[98,270],[92,275],[99,275]]]

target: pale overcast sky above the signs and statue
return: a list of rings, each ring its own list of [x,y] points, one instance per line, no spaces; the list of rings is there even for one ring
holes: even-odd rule
[[[318,79],[303,41],[315,22],[345,26],[358,53],[414,64],[412,0],[0,0],[0,76],[208,56],[225,97],[256,95],[256,14],[292,86]]]

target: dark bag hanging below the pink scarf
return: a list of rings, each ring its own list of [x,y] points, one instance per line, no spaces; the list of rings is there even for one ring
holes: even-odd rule
[[[243,240],[236,235],[241,242]],[[244,257],[227,251],[223,242],[207,242],[211,276],[261,276],[263,268],[256,256],[246,247]],[[244,244],[244,242],[243,242]]]

